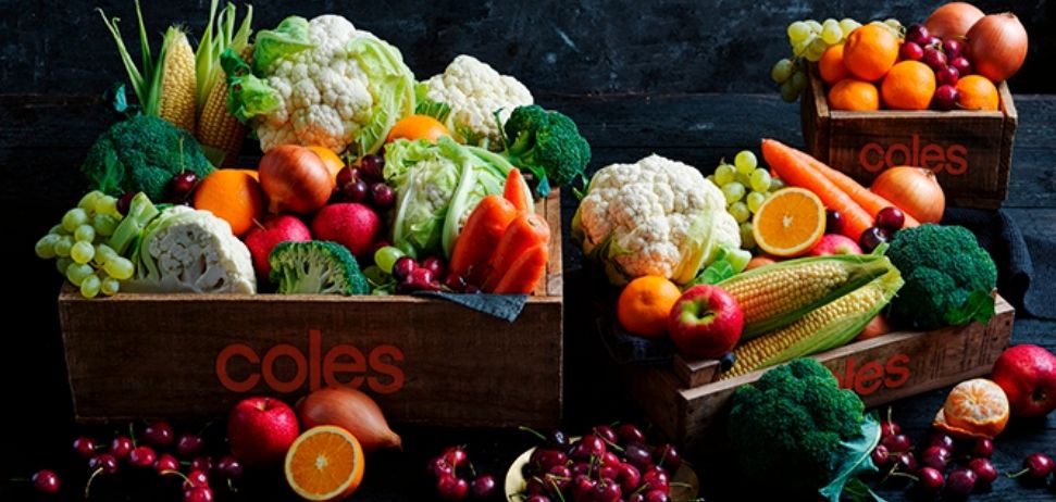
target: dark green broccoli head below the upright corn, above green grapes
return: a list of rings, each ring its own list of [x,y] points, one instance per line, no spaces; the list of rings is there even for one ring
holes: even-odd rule
[[[80,165],[89,189],[114,197],[141,191],[152,201],[170,199],[169,183],[182,171],[192,171],[201,179],[213,166],[194,136],[147,115],[111,126]]]

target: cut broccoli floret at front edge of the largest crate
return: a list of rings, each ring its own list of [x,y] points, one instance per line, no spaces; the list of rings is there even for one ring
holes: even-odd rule
[[[352,253],[324,240],[282,242],[268,256],[279,294],[368,294],[370,285]]]

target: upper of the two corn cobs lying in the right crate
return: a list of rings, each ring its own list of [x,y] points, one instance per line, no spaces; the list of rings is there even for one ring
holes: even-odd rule
[[[747,341],[794,323],[892,268],[881,255],[811,256],[738,274],[718,286],[741,306],[741,340]]]

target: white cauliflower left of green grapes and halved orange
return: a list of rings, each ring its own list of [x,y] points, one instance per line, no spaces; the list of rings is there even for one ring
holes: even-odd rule
[[[719,249],[741,247],[719,187],[695,167],[656,154],[599,170],[572,233],[617,285],[643,275],[686,284]]]

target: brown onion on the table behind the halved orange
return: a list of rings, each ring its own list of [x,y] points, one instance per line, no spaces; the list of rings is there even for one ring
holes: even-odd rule
[[[326,387],[308,394],[297,403],[297,416],[305,429],[334,425],[348,430],[367,453],[402,445],[400,437],[388,428],[377,403],[350,387]]]

